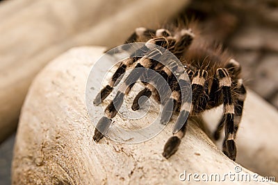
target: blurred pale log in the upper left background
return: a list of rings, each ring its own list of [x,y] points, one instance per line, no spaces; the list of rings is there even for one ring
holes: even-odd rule
[[[188,0],[6,1],[0,6],[0,142],[15,130],[34,76],[72,46],[124,42],[138,26],[158,26]]]

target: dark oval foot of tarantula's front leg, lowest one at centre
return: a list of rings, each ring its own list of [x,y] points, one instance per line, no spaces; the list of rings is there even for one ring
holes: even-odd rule
[[[164,150],[163,150],[163,157],[169,159],[175,152],[177,152],[179,148],[179,144],[181,143],[181,139],[177,136],[172,136],[168,141],[165,143]]]

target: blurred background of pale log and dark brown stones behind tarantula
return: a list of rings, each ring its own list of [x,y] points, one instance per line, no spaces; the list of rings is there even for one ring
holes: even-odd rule
[[[13,118],[6,119],[0,116],[0,125],[1,122],[8,123],[8,126],[5,126],[9,130],[0,132],[0,184],[10,184],[15,127],[33,76],[49,60],[73,46],[94,44],[111,47],[122,44],[137,26],[158,28],[165,22],[176,24],[177,21],[186,22],[190,19],[199,21],[204,37],[222,43],[242,64],[247,87],[256,91],[275,109],[278,108],[278,1],[183,0],[173,1],[172,3],[177,3],[173,6],[167,6],[165,1],[149,1],[149,7],[152,7],[149,9],[144,8],[148,7],[144,1],[101,3],[83,0],[78,3],[65,3],[67,6],[52,2],[0,0],[0,82],[5,84],[8,80],[7,66],[13,67],[13,70],[17,67],[21,69],[20,62],[26,67],[26,63],[31,61],[26,70],[33,70],[31,75],[20,76],[18,82],[24,82],[25,89],[12,89],[14,94],[23,94],[18,104],[14,103],[16,98],[13,98],[13,102],[1,99],[3,92],[8,90],[0,83],[1,107],[6,104],[15,106]],[[145,12],[141,17],[140,11],[143,10]],[[125,14],[121,14],[123,11]],[[130,20],[128,17],[122,18],[126,13],[138,13],[138,16]],[[147,19],[144,19],[144,16]],[[119,28],[114,30],[115,26]],[[97,35],[99,33],[101,35]]]

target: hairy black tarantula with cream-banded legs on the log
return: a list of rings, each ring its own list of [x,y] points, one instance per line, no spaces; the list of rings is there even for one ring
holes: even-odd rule
[[[172,28],[171,30],[165,28],[158,30],[136,28],[135,32],[126,40],[126,43],[132,42],[146,42],[145,46],[140,49],[140,52],[145,56],[138,58],[131,55],[130,58],[123,60],[108,85],[97,94],[94,104],[99,105],[102,100],[111,94],[113,87],[117,84],[117,80],[131,65],[135,64],[135,69],[153,69],[165,78],[172,90],[172,95],[167,99],[172,100],[174,106],[169,109],[168,101],[164,101],[163,112],[180,112],[177,122],[184,123],[178,130],[175,129],[177,128],[175,126],[173,136],[165,143],[163,157],[167,159],[177,151],[181,139],[186,134],[188,114],[189,116],[199,116],[206,109],[223,104],[223,116],[213,137],[218,140],[224,127],[225,138],[222,144],[222,151],[230,159],[236,160],[236,143],[234,139],[236,138],[236,132],[243,113],[243,103],[246,96],[243,80],[240,78],[240,64],[230,58],[227,51],[223,51],[220,46],[206,44],[204,39],[195,36],[190,28]],[[181,105],[182,91],[177,85],[177,81],[180,79],[174,78],[172,71],[163,66],[163,64],[148,58],[149,55],[161,55],[161,53],[154,51],[149,44],[161,46],[181,60],[190,78],[193,93],[190,110],[183,108],[183,105]],[[133,71],[135,70],[133,69]],[[126,78],[126,81],[131,79],[140,80],[142,74],[133,73],[133,71]],[[133,85],[134,83],[129,85],[126,82],[126,91],[118,91],[113,101],[106,107],[106,116],[99,120],[99,123],[97,123],[98,129],[95,129],[93,139],[96,142],[104,136],[99,130],[104,133],[108,129],[111,124],[111,118],[117,114],[117,109],[123,103],[124,93],[128,94]],[[134,111],[140,108],[138,100],[142,96],[147,96],[148,98],[153,96],[161,104],[163,102],[157,97],[156,89],[152,85],[145,83],[145,89],[140,91],[133,101],[132,109]],[[165,124],[164,120],[165,118],[162,116],[161,123]]]

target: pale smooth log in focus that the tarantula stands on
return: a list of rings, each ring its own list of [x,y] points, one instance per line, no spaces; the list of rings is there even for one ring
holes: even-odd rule
[[[161,152],[165,141],[172,135],[172,122],[157,136],[142,143],[124,144],[106,138],[95,143],[92,140],[93,123],[98,120],[90,120],[85,105],[85,89],[92,66],[105,50],[102,47],[71,49],[35,78],[26,96],[17,130],[13,184],[183,184],[188,182],[188,176],[184,182],[179,178],[185,177],[182,175],[185,171],[187,175],[199,174],[195,178],[201,182],[204,181],[202,177],[211,178],[211,174],[219,174],[221,179],[225,174],[234,174],[235,179],[226,176],[222,184],[261,184],[261,176],[224,156],[192,122],[179,150],[170,159],[163,158]],[[97,71],[101,70],[103,68],[100,67]],[[96,79],[97,75],[95,73]],[[97,87],[99,80],[91,80]],[[98,89],[92,87],[92,90]],[[96,117],[101,114],[97,107],[93,109]],[[147,118],[151,118],[154,112]],[[238,133],[238,140],[242,140],[238,141],[238,156],[252,161],[256,173],[260,170],[254,165],[261,163],[258,159],[263,159],[263,164],[277,164],[277,155],[271,155],[277,153],[277,142],[270,141],[277,141],[275,131],[278,125],[273,124],[277,118],[278,114],[272,107],[248,92]],[[128,124],[125,119],[120,120],[117,118],[120,125]],[[141,123],[138,121],[138,125]],[[258,148],[260,157],[256,156]],[[247,167],[248,163],[244,165]],[[265,174],[277,172],[277,166],[268,167]],[[250,182],[238,179],[245,178],[242,175],[250,177]],[[199,183],[193,176],[189,181],[190,184]],[[208,184],[215,182],[208,179]]]

